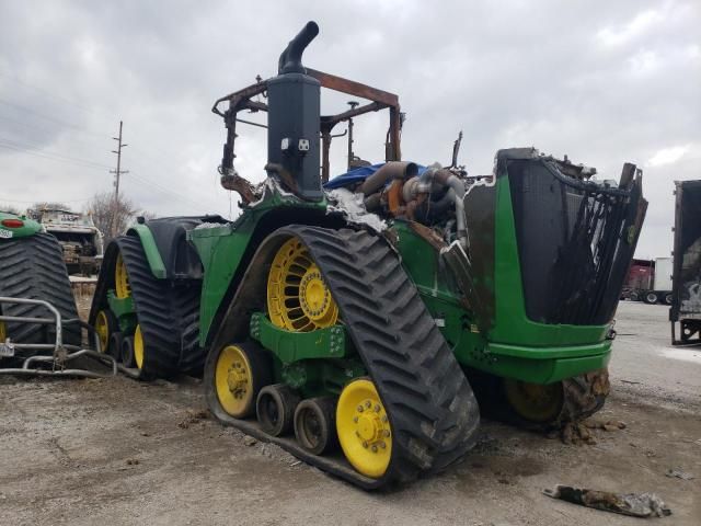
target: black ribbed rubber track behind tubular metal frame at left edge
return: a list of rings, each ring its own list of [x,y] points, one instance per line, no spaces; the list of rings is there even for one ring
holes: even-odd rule
[[[78,318],[64,252],[54,236],[36,233],[27,238],[0,241],[0,296],[42,299],[50,302],[65,320]],[[47,318],[47,309],[36,305],[4,304],[7,316]],[[36,323],[8,323],[18,343],[54,343],[54,330]],[[80,328],[64,329],[64,343],[81,344]]]

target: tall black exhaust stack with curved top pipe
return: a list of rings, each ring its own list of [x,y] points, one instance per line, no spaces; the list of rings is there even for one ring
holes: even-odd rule
[[[267,81],[268,172],[294,182],[292,190],[304,199],[322,198],[320,178],[320,88],[307,75],[302,53],[319,34],[309,22],[290,41],[278,64],[278,75]]]

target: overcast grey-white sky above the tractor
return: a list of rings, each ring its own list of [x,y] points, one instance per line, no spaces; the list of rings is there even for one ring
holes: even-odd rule
[[[122,191],[160,216],[229,216],[225,129],[212,102],[276,72],[308,20],[304,64],[400,95],[403,157],[489,173],[499,148],[535,146],[618,179],[644,170],[637,256],[668,255],[675,180],[701,179],[701,2],[0,2],[0,204],[83,208]],[[322,110],[345,99],[322,95]],[[256,119],[257,116],[252,116]],[[384,114],[356,152],[382,160]],[[240,126],[237,167],[264,178],[265,134]],[[343,139],[334,142],[343,171]],[[333,167],[332,167],[333,171]],[[232,196],[233,215],[237,195]]]

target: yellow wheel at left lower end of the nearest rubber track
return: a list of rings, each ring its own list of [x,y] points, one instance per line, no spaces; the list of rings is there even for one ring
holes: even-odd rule
[[[248,416],[253,407],[251,373],[251,363],[241,347],[228,345],[219,354],[215,369],[217,398],[223,410],[233,418]]]

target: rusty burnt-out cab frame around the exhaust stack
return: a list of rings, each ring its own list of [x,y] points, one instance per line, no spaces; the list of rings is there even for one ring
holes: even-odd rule
[[[322,115],[320,117],[322,140],[321,180],[323,183],[329,181],[330,174],[329,151],[331,149],[331,139],[333,137],[331,135],[332,129],[338,123],[349,121],[353,117],[357,117],[366,113],[389,108],[390,125],[384,142],[384,160],[401,161],[402,115],[400,112],[399,98],[394,93],[389,93],[354,80],[344,79],[343,77],[336,77],[335,75],[317,71],[315,69],[307,68],[307,75],[317,79],[321,83],[322,88],[371,101],[369,104],[354,107],[337,115]],[[263,94],[266,90],[267,80],[258,80],[255,84],[251,84],[242,90],[217,99],[212,105],[211,111],[222,117],[227,126],[227,142],[225,145],[225,152],[221,162],[223,170],[232,168],[233,159],[237,157],[234,153],[234,141],[237,138],[235,123],[240,122],[251,124],[253,126],[265,127],[262,124],[237,118],[237,114],[244,110],[250,110],[251,112],[267,112],[267,104],[252,100],[254,96]],[[219,110],[219,105],[222,102],[229,102],[228,110]]]

